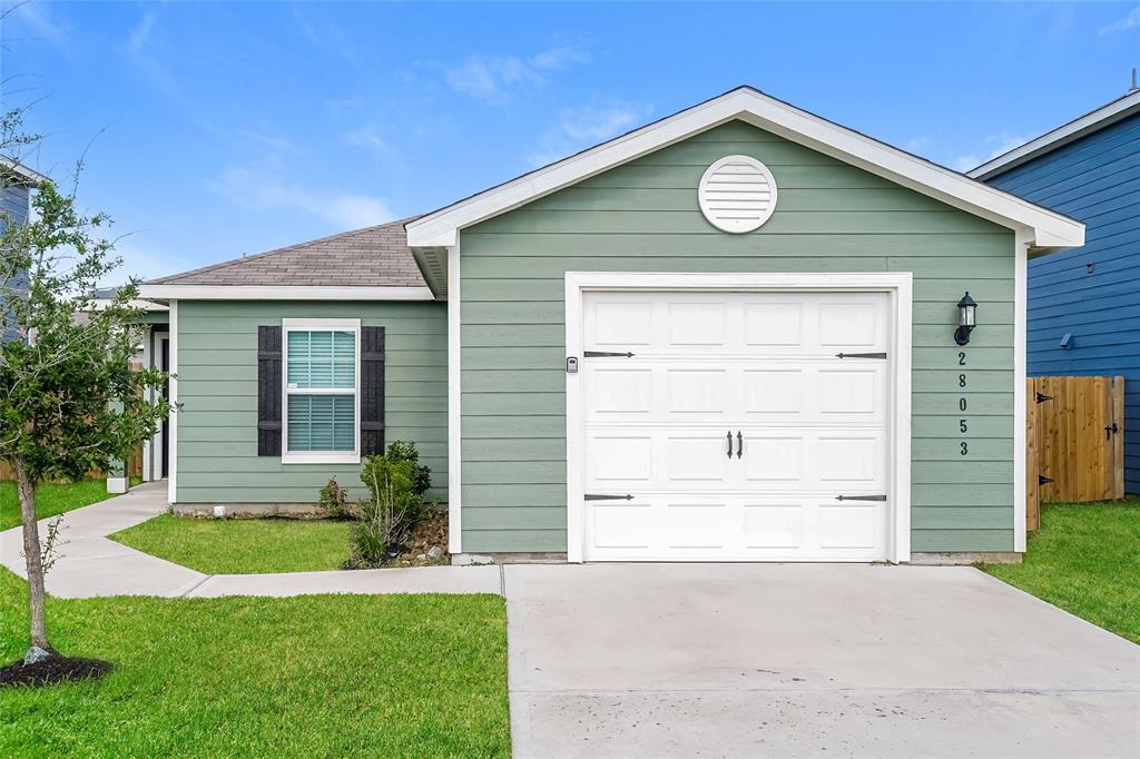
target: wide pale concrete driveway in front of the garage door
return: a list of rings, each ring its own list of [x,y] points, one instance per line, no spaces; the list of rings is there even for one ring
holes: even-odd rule
[[[511,565],[518,757],[1135,757],[1140,646],[971,568]]]

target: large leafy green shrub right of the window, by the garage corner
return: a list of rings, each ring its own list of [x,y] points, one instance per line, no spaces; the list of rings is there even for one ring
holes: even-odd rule
[[[380,566],[423,519],[431,472],[420,464],[414,443],[397,440],[386,456],[365,459],[360,480],[370,497],[357,504],[348,565]]]

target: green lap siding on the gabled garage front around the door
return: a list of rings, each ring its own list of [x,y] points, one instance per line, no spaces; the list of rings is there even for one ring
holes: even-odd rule
[[[779,187],[759,230],[697,207],[724,155]],[[463,548],[565,550],[565,271],[913,271],[913,549],[1010,550],[1013,238],[988,222],[743,124],[587,179],[462,234]],[[971,451],[958,432],[955,304],[970,344]]]

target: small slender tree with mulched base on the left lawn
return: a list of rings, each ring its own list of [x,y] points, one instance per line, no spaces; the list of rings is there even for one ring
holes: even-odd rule
[[[80,166],[81,168],[81,166]],[[78,176],[78,172],[76,172]],[[158,395],[166,374],[135,370],[141,344],[138,280],[96,308],[96,285],[117,268],[114,243],[101,232],[109,219],[76,209],[74,189],[39,185],[32,217],[0,219],[0,459],[16,474],[24,525],[31,604],[32,663],[52,650],[43,609],[43,553],[35,521],[35,487],[44,480],[79,480],[106,471],[153,435],[169,413]],[[14,286],[26,272],[26,291]]]

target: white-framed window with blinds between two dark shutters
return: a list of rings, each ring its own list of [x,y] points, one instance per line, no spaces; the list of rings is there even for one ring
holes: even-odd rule
[[[360,462],[360,320],[283,319],[285,464]]]

